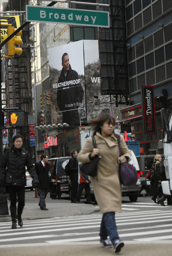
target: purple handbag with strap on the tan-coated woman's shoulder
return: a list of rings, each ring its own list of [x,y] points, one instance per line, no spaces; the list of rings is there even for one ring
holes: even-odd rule
[[[117,139],[118,139],[119,151],[120,151],[120,156],[121,156],[122,152],[121,152],[121,144],[120,144],[120,136],[119,135],[117,135]],[[133,165],[128,164],[127,162],[123,163],[123,164],[120,163],[119,178],[120,178],[120,182],[122,183],[122,185],[128,186],[128,187],[135,186],[136,182],[138,180],[136,168]]]

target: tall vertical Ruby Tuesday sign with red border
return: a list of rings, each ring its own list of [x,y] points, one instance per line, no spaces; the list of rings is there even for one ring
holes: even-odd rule
[[[154,88],[153,86],[143,86],[142,90],[144,132],[146,134],[156,133]]]

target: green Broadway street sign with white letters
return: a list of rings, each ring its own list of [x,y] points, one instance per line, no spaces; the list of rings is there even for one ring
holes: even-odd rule
[[[109,12],[26,5],[26,21],[109,28]]]

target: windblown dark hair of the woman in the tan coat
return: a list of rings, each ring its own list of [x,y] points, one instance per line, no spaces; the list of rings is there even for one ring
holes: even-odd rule
[[[101,126],[104,124],[104,122],[108,122],[108,124],[115,125],[115,119],[112,116],[109,116],[108,114],[100,114],[97,119],[89,120],[89,123],[91,123],[93,128],[93,135],[96,135],[96,132],[99,132],[101,134]]]

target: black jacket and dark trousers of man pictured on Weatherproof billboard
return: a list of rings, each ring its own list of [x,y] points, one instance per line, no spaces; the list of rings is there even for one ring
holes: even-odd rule
[[[81,107],[83,94],[78,73],[70,66],[67,76],[65,76],[64,68],[62,68],[58,79],[57,104],[63,113],[63,123],[70,126],[80,124],[78,107]]]

